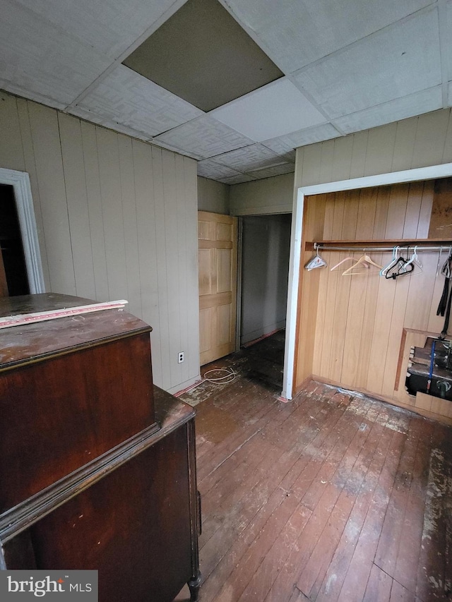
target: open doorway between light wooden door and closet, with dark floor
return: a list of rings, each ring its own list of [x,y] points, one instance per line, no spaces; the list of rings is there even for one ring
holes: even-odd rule
[[[290,213],[242,217],[240,347],[281,387],[291,224]]]

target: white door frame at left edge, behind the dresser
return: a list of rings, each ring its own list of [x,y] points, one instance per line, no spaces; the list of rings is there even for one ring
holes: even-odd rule
[[[30,176],[26,171],[0,167],[0,183],[13,186],[30,294],[44,293],[44,272],[42,271],[40,245],[37,237]]]

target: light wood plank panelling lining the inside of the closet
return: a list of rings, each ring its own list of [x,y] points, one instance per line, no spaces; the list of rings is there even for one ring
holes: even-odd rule
[[[427,239],[434,181],[381,186],[307,197],[300,265],[295,366],[296,388],[311,375],[327,383],[369,392],[405,407],[407,345],[423,345],[425,333],[438,335],[444,318],[436,307],[444,277],[436,277],[438,252],[420,251],[423,271],[398,279],[331,272],[349,252],[321,251],[328,267],[307,271],[313,241]],[[434,234],[438,237],[438,234]],[[388,243],[387,246],[391,246]],[[311,247],[311,248],[309,248]],[[448,247],[441,264],[446,260]],[[372,252],[381,265],[391,252]],[[355,253],[359,258],[362,250]],[[418,270],[417,270],[418,271]],[[452,405],[452,404],[451,404]],[[451,416],[452,417],[452,416]]]

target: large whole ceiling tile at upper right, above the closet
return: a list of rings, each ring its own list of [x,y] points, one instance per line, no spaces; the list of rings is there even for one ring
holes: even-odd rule
[[[292,80],[332,119],[433,88],[441,83],[437,11],[328,56]]]

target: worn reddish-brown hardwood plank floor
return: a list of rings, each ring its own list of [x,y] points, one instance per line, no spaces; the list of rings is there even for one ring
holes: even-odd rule
[[[452,428],[315,382],[285,404],[275,356],[271,378],[257,358],[181,397],[198,404],[201,602],[452,600]]]

